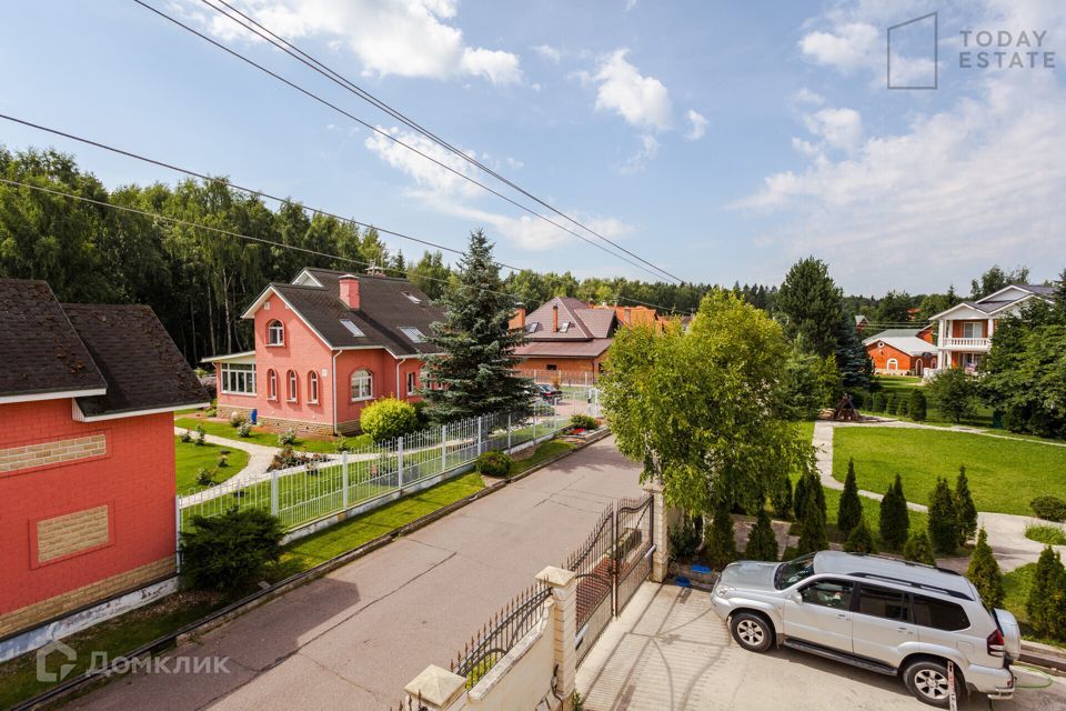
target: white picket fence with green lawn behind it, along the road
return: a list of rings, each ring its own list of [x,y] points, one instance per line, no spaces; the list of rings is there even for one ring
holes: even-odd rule
[[[178,497],[178,527],[194,515],[258,508],[279,517],[285,529],[349,511],[388,503],[396,492],[431,478],[457,474],[490,450],[513,451],[554,435],[569,420],[557,408],[537,403],[532,417],[490,414],[431,428],[395,440],[345,452],[341,461],[275,470],[258,481],[221,484]]]

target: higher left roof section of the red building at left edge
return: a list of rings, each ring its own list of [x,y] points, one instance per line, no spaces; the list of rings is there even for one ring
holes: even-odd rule
[[[51,288],[0,279],[0,397],[107,387]]]

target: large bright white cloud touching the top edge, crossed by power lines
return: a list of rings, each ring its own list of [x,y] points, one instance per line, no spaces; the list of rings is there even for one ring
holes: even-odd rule
[[[516,54],[470,47],[450,22],[457,0],[244,0],[241,10],[281,37],[320,37],[351,50],[364,74],[484,77],[495,84],[521,81]],[[189,12],[217,37],[249,38],[247,30],[218,14]]]

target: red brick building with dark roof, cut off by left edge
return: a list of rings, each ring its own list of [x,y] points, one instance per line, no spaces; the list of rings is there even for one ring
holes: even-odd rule
[[[0,353],[4,658],[173,577],[173,411],[210,398],[151,309],[60,304],[43,281],[0,279]]]

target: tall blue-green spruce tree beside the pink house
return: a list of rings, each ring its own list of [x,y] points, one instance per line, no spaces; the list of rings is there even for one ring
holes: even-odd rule
[[[444,321],[428,340],[442,352],[426,360],[428,380],[438,387],[423,390],[433,421],[531,412],[532,383],[515,371],[514,349],[524,333],[509,327],[514,300],[505,293],[492,243],[481,230],[471,233],[456,283],[441,306]]]

